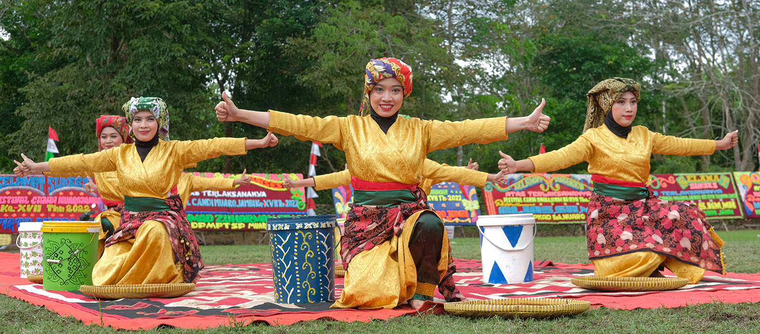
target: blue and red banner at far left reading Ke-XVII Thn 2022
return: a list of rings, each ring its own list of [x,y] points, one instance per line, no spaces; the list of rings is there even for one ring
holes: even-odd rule
[[[16,233],[21,222],[78,220],[99,202],[84,191],[87,178],[0,175],[0,234]]]

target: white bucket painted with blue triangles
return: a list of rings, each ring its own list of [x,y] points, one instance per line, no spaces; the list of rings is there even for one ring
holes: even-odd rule
[[[478,216],[477,227],[484,283],[533,281],[533,214]]]

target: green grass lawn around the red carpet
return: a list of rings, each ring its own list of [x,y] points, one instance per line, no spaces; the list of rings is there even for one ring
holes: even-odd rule
[[[728,270],[736,273],[760,272],[760,234],[758,231],[720,232],[726,241],[724,251]],[[480,259],[478,238],[455,238],[451,245],[454,257]],[[268,245],[201,246],[205,263],[258,263],[268,262]],[[536,260],[561,263],[587,263],[584,237],[540,237],[535,239]],[[0,295],[0,333],[51,333],[51,332],[128,332],[84,325],[72,317],[58,314]],[[233,333],[233,332],[443,332],[457,333],[536,333],[536,332],[591,332],[591,333],[693,333],[693,332],[760,332],[760,304],[701,304],[678,308],[651,310],[589,310],[577,317],[550,320],[504,320],[493,317],[469,319],[453,316],[421,315],[375,320],[370,323],[343,323],[316,320],[291,326],[224,326],[216,329],[151,329],[161,333]]]

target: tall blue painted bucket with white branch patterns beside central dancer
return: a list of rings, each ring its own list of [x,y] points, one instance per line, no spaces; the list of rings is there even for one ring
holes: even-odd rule
[[[267,219],[277,302],[335,300],[336,226],[335,215]]]

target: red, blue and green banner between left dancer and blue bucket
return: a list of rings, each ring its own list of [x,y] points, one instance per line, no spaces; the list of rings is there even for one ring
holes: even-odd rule
[[[239,174],[192,173],[205,178],[239,178]],[[287,190],[279,174],[249,174],[251,184],[233,191],[195,191],[190,194],[185,211],[195,230],[251,231],[266,230],[271,217],[305,216],[304,189]],[[290,174],[300,180],[301,174]]]

